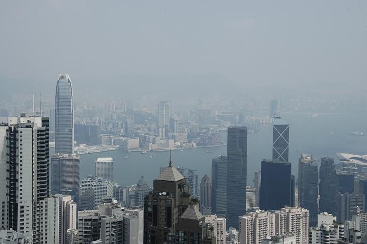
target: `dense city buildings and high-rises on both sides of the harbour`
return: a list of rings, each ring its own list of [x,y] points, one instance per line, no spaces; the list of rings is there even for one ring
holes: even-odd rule
[[[32,97],[31,112],[11,116],[2,110],[4,243],[362,243],[367,238],[367,156],[336,153],[334,162],[333,155],[318,160],[301,153],[295,174],[296,163],[289,160],[292,124],[279,115],[276,99],[264,117],[211,109],[182,116],[161,101],[149,111],[155,119],[140,124],[124,101],[103,103],[101,116],[91,109],[75,115],[67,74],[58,77],[55,107],[48,113],[42,97]],[[251,127],[272,128],[272,157],[248,174],[248,134],[256,133]],[[219,156],[204,152],[213,159],[202,178],[195,168],[176,166],[172,157],[174,151],[190,154],[200,147],[226,147]],[[167,166],[156,166],[152,185],[141,168],[137,183],[126,186],[114,167],[129,156],[99,157],[111,152],[153,155],[145,156],[152,163],[155,155],[170,156],[163,162]],[[84,154],[95,158],[93,175],[81,175]]]

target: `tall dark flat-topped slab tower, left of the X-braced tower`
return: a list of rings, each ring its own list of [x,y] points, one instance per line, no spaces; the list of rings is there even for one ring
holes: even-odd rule
[[[227,226],[238,228],[246,213],[247,128],[229,127],[227,138]]]

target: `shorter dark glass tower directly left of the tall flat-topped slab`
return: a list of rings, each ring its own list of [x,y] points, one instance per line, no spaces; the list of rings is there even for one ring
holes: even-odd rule
[[[227,213],[227,156],[212,160],[212,212],[218,217]]]

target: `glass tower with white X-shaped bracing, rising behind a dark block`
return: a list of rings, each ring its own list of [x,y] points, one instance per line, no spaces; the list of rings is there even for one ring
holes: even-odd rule
[[[273,159],[288,162],[289,124],[282,118],[275,117],[273,123]]]

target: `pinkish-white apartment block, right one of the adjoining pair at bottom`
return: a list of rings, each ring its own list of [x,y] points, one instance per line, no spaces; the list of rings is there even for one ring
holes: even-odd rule
[[[308,210],[300,207],[281,208],[275,211],[275,233],[293,232],[295,244],[308,243]]]

